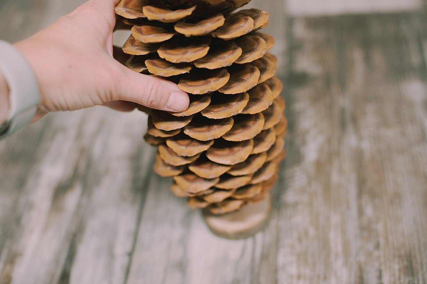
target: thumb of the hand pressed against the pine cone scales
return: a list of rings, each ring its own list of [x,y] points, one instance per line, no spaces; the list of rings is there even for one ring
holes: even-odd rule
[[[164,111],[180,112],[187,109],[190,99],[173,82],[137,73],[121,65],[115,81],[118,100],[126,100]]]

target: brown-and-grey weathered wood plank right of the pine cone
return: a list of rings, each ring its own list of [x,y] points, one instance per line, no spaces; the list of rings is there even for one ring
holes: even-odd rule
[[[426,281],[416,17],[292,21],[279,283]]]

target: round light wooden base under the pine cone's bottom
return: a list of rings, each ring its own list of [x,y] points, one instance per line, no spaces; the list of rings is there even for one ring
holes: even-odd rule
[[[271,194],[257,203],[249,203],[236,212],[213,215],[204,212],[205,223],[219,237],[243,239],[251,237],[266,225],[271,211]]]

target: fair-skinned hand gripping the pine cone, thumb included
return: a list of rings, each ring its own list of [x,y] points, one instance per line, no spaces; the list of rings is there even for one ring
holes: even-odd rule
[[[38,79],[41,105],[49,111],[108,105],[122,111],[135,103],[183,111],[188,95],[167,80],[136,73],[113,58],[114,7],[119,0],[89,0],[53,25],[15,46]]]

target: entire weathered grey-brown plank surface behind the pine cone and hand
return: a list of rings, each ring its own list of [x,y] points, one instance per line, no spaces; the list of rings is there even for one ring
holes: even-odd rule
[[[80,2],[2,1],[0,38]],[[152,173],[143,114],[49,114],[0,142],[0,283],[427,283],[425,13],[281,5],[252,4],[272,12],[289,119],[265,231],[213,236]]]

